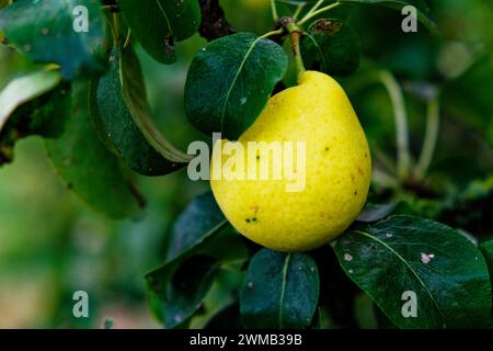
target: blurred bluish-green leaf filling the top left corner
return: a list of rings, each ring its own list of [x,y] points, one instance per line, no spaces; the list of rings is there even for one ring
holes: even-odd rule
[[[88,9],[88,32],[76,32],[81,18],[78,7]],[[98,73],[104,68],[106,35],[100,1],[19,0],[0,12],[0,36],[34,63],[57,63],[64,78]]]

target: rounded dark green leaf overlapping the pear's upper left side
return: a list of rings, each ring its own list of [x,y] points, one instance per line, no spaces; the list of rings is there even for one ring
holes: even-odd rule
[[[188,120],[200,132],[238,139],[265,106],[287,70],[276,43],[251,33],[207,44],[192,63],[185,86]]]

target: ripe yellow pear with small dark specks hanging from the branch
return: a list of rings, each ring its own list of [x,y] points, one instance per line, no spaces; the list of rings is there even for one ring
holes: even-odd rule
[[[265,145],[252,156],[254,141],[287,145],[283,159]],[[298,86],[272,97],[239,140],[228,143],[218,140],[213,150],[213,193],[232,226],[262,246],[318,248],[342,234],[366,202],[368,141],[344,90],[328,75],[301,73]],[[261,177],[265,158],[268,179]]]

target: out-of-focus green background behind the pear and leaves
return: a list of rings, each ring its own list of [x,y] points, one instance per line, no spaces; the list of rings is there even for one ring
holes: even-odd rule
[[[221,1],[238,31],[256,34],[273,26],[268,3]],[[402,16],[389,9],[354,5],[351,13],[342,9],[334,15],[347,20],[360,36],[362,72],[367,67],[387,68],[408,87],[415,155],[425,125],[420,92],[429,84],[442,87],[442,128],[427,185],[446,199],[493,176],[493,13],[491,0],[429,3],[439,38],[421,26],[419,33],[401,32]],[[138,49],[154,120],[183,150],[193,140],[207,140],[188,124],[183,109],[186,71],[204,44],[198,35],[180,43],[180,60],[171,66]],[[3,46],[0,63],[0,88],[26,67]],[[358,79],[356,73],[341,81],[347,83],[372,152],[391,156],[394,127],[388,95],[380,87],[353,92]],[[145,217],[108,220],[65,189],[41,138],[18,143],[14,162],[0,169],[0,328],[102,328],[106,319],[115,328],[159,327],[148,309],[144,274],[162,263],[173,218],[208,184],[188,181],[186,170],[137,180],[148,201]],[[90,318],[72,316],[72,294],[78,290],[89,293]]]

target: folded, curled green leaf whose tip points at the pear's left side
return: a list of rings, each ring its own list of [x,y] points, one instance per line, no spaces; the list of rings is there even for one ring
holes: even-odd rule
[[[124,57],[121,59],[121,52],[113,49],[108,72],[91,86],[91,115],[100,136],[106,146],[110,145],[110,150],[116,149],[140,174],[163,176],[179,170],[186,156],[175,151],[154,131],[139,63],[131,50]],[[149,138],[159,138],[159,144],[149,141],[144,133],[148,129],[153,133]]]

